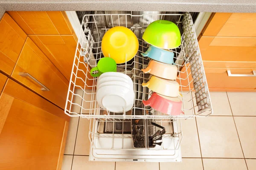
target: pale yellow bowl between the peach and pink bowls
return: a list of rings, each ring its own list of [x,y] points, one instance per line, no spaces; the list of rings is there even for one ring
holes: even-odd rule
[[[151,91],[169,97],[177,97],[180,95],[180,85],[175,80],[163,79],[152,76],[148,82],[142,83],[143,87],[148,87]]]

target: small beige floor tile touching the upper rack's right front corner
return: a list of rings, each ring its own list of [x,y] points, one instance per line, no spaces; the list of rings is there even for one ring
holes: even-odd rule
[[[226,92],[210,92],[213,114],[217,116],[232,116]]]

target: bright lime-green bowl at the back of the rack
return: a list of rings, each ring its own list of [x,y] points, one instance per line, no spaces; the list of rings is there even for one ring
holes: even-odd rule
[[[180,46],[180,30],[171,21],[157,20],[149,24],[142,36],[145,42],[158,48],[173,49]]]

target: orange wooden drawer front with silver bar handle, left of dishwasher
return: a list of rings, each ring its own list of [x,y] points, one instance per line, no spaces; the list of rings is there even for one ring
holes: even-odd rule
[[[49,91],[42,91],[42,86],[36,80],[22,77],[20,73],[30,74]],[[20,53],[12,77],[64,109],[68,81],[29,37]]]

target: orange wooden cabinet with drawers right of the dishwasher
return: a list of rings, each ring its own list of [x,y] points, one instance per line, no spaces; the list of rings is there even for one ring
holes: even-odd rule
[[[213,13],[198,43],[210,91],[256,91],[256,14]],[[228,76],[241,74],[239,77]]]

